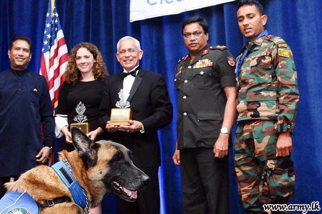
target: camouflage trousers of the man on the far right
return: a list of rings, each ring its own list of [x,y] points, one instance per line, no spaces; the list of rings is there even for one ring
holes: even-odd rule
[[[254,214],[263,204],[287,203],[294,194],[295,174],[290,157],[276,157],[275,121],[238,122],[235,135],[235,172],[244,208]],[[283,214],[287,212],[277,212]]]

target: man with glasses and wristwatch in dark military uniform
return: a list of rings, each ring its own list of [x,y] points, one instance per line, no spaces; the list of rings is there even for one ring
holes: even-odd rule
[[[184,214],[228,214],[228,144],[236,116],[234,60],[225,46],[208,43],[202,17],[182,23],[189,55],[176,67],[177,145]]]

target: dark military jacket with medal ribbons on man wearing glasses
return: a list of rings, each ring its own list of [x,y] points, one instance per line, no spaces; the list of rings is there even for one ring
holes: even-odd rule
[[[225,46],[207,44],[176,67],[178,149],[214,147],[226,105],[225,86],[235,86],[234,61]]]

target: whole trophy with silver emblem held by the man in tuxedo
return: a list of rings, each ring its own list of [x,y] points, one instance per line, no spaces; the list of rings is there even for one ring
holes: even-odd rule
[[[109,125],[111,126],[120,126],[126,125],[129,126],[130,123],[128,120],[132,120],[132,110],[130,107],[130,102],[125,100],[123,89],[118,92],[119,101],[116,102],[115,106],[110,111],[110,120]]]

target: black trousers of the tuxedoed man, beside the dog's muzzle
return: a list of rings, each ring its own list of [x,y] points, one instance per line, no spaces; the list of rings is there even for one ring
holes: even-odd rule
[[[160,214],[159,167],[140,168],[150,178],[148,186],[138,191],[135,202],[117,198],[118,214]]]

